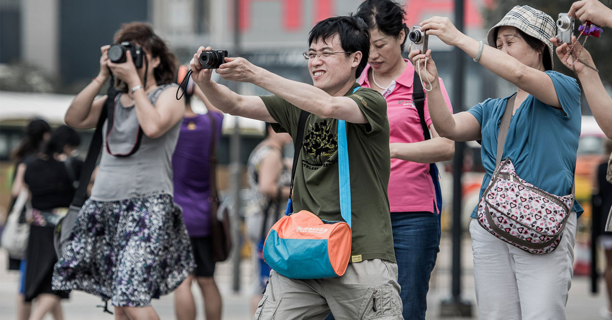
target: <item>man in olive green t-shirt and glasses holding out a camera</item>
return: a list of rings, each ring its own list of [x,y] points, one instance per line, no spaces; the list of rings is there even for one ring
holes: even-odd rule
[[[253,83],[274,95],[245,96],[211,80],[200,69],[200,47],[192,78],[211,103],[225,113],[270,122],[277,132],[297,135],[308,111],[304,143],[294,182],[295,212],[308,210],[324,220],[341,220],[338,190],[338,119],[346,121],[353,243],[341,277],[296,280],[272,270],[254,319],[401,319],[400,286],[389,214],[389,121],[379,92],[356,84],[367,64],[370,35],[363,20],[335,17],[310,31],[304,53],[314,86],[287,80],[243,58],[225,58],[217,73]]]

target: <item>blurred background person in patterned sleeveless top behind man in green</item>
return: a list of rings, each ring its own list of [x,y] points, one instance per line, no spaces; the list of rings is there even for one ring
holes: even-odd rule
[[[286,164],[283,149],[291,143],[287,133],[276,133],[266,123],[266,138],[251,152],[247,161],[247,180],[250,202],[247,206],[245,225],[249,239],[253,242],[253,297],[251,311],[255,313],[257,303],[266,288],[270,266],[263,259],[263,244],[266,235],[285,210],[284,202],[289,198],[291,166]]]

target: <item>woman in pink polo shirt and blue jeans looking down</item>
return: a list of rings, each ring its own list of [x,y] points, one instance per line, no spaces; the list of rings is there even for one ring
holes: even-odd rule
[[[431,125],[427,100],[424,121],[431,139],[425,140],[412,99],[414,66],[401,56],[409,32],[405,15],[403,7],[391,0],[367,0],[359,6],[357,16],[368,24],[371,43],[369,63],[359,84],[381,92],[387,100],[391,129],[389,204],[403,316],[425,319],[429,278],[440,243],[430,163],[450,160],[455,144],[441,138]],[[442,80],[440,86],[452,112]]]

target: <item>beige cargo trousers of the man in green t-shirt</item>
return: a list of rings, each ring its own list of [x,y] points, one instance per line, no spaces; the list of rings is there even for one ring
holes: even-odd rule
[[[397,320],[401,316],[397,264],[381,259],[349,263],[342,277],[296,280],[272,270],[253,320]]]

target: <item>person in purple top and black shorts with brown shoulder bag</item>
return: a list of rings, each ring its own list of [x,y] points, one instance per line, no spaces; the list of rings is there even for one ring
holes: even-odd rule
[[[177,83],[181,83],[187,74],[187,67],[181,65],[178,74]],[[222,299],[213,277],[217,261],[212,254],[211,237],[211,219],[214,218],[211,215],[216,215],[217,204],[211,203],[210,199],[212,188],[217,188],[212,185],[212,171],[217,169],[214,163],[215,146],[221,140],[223,114],[206,99],[192,80],[187,80],[184,93],[185,117],[172,157],[174,201],[183,211],[196,267],[174,291],[174,310],[179,320],[195,320],[196,305],[192,294],[192,283],[195,282],[202,292],[206,319],[219,320]],[[193,112],[194,95],[206,105],[206,114]]]

